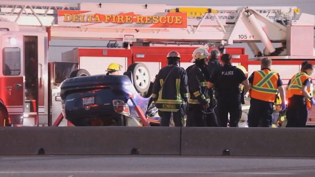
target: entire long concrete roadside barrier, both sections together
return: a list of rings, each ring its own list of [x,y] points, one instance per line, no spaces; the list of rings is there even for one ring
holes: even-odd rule
[[[0,155],[314,157],[313,128],[1,127]]]

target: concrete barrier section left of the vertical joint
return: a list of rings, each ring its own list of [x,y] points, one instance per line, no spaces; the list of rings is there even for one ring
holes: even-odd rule
[[[180,155],[180,128],[1,127],[0,155]]]

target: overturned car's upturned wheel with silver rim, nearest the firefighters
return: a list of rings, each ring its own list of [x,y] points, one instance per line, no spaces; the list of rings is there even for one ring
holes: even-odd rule
[[[143,63],[131,64],[127,71],[132,72],[135,89],[138,93],[146,92],[151,83],[149,69]]]

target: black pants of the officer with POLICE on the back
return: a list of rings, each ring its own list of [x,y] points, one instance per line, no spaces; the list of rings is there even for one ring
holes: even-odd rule
[[[238,127],[238,122],[242,116],[241,95],[231,95],[220,97],[218,100],[220,126],[226,127],[228,113],[230,113],[230,126]]]

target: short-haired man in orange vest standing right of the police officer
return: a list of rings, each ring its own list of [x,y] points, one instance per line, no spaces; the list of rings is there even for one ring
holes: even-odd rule
[[[277,72],[271,71],[272,61],[261,59],[261,70],[249,76],[250,107],[248,112],[249,127],[271,127],[273,104],[279,91],[282,100],[281,109],[285,109],[285,92],[282,80]],[[261,125],[260,125],[261,123]]]

